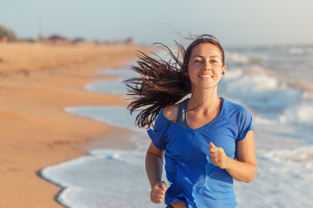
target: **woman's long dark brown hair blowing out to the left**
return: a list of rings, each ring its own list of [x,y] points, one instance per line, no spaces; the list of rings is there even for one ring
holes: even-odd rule
[[[134,111],[140,111],[136,117],[136,124],[139,127],[150,128],[153,126],[161,109],[176,104],[186,95],[191,93],[191,82],[188,72],[188,63],[192,50],[200,43],[211,43],[221,50],[222,62],[224,65],[224,50],[218,39],[211,35],[201,35],[196,38],[187,38],[193,42],[187,47],[177,44],[178,52],[173,53],[167,46],[161,43],[160,48],[165,50],[173,59],[165,61],[155,53],[157,58],[147,56],[139,52],[137,65],[131,65],[130,68],[140,74],[140,77],[134,77],[125,80],[128,88],[128,95],[133,96],[133,101],[128,105],[131,114]]]

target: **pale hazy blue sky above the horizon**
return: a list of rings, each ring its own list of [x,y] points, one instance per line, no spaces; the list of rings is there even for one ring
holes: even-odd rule
[[[223,46],[313,44],[312,0],[0,0],[0,25],[20,38],[48,37],[174,45],[211,34]],[[174,29],[176,28],[176,29]]]

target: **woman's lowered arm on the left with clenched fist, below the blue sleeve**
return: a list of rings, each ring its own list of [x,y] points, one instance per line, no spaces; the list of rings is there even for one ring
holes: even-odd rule
[[[161,150],[163,160],[165,150]],[[163,163],[160,159],[160,150],[151,142],[146,154],[146,172],[151,185],[150,198],[157,204],[162,202],[165,195],[166,185],[162,180]]]

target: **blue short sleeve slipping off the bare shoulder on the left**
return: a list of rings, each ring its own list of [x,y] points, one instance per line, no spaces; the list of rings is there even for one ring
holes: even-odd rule
[[[148,129],[147,132],[156,148],[161,149],[161,150],[166,150],[166,142],[164,141],[162,136],[164,137],[163,134],[166,130],[168,121],[163,116],[162,110],[159,113],[158,117],[156,118],[156,122],[153,126],[153,130]]]

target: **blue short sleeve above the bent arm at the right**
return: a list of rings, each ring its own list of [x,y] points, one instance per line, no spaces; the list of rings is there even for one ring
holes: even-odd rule
[[[238,115],[237,121],[239,123],[238,126],[238,137],[237,137],[237,142],[243,140],[246,136],[247,133],[250,130],[254,130],[253,124],[252,124],[252,117],[249,114],[248,110],[243,108],[243,110],[240,112]]]

